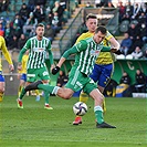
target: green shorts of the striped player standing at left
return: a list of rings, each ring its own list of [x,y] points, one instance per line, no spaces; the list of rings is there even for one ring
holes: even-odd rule
[[[50,80],[49,72],[46,67],[41,69],[28,69],[27,71],[27,81],[35,82],[36,80]]]

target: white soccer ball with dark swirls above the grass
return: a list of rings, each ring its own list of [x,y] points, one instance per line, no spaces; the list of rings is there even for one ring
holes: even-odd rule
[[[73,112],[75,115],[83,116],[87,113],[87,105],[83,102],[77,102],[73,105]]]

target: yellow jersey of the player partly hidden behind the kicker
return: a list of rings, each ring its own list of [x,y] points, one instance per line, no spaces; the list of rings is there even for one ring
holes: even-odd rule
[[[81,40],[84,40],[86,38],[91,38],[93,36],[94,33],[91,33],[91,32],[86,32],[86,33],[83,33],[78,36],[78,39],[76,40],[75,43],[80,42]],[[109,40],[113,38],[113,35],[107,31],[107,34],[105,36],[105,39],[103,40],[103,44],[104,46],[111,46],[111,43],[109,43]],[[97,60],[95,61],[96,64],[102,64],[102,65],[105,65],[105,64],[111,64],[113,63],[113,57],[112,57],[112,53],[111,52],[101,52]]]

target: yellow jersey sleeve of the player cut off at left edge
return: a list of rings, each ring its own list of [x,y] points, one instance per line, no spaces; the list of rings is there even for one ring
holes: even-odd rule
[[[2,46],[1,46],[1,50],[2,50],[2,54],[4,55],[7,62],[8,62],[9,64],[13,64],[13,63],[12,63],[12,60],[11,60],[11,56],[10,56],[8,50],[7,50],[7,45],[6,45],[4,39],[2,39]]]

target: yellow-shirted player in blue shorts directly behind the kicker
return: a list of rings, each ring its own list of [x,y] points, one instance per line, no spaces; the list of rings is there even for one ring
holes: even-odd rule
[[[95,29],[97,27],[98,22],[97,22],[97,18],[95,14],[87,14],[86,15],[86,27],[87,27],[87,32],[83,33],[78,36],[78,39],[76,40],[76,43],[80,42],[81,40],[84,40],[86,38],[91,38],[94,35]],[[107,31],[107,34],[105,36],[105,39],[103,40],[103,44],[104,46],[113,46],[115,49],[119,49],[119,43],[115,40],[115,38]],[[113,55],[113,56],[112,56]],[[104,92],[104,88],[106,87],[107,83],[109,82],[112,74],[113,74],[113,69],[114,69],[114,64],[113,64],[113,57],[114,54],[111,52],[101,52],[99,56],[97,57],[95,65],[94,65],[94,70],[92,72],[92,74],[90,75],[90,77],[97,83],[98,90],[101,91],[101,93]],[[86,103],[88,99],[87,94],[81,92],[80,95],[80,102],[84,102]],[[103,109],[104,113],[106,112],[106,105],[105,105],[105,101],[103,104]],[[82,124],[82,117],[81,116],[76,116],[75,120],[73,122],[73,125],[78,125]]]

